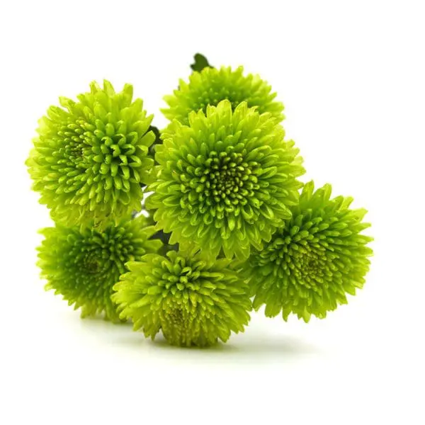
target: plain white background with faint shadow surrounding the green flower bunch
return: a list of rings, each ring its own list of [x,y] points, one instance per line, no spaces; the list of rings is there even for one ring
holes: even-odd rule
[[[2,2],[0,423],[424,424],[423,6]],[[347,306],[310,324],[253,314],[210,350],[81,321],[45,293],[35,246],[50,219],[23,164],[47,107],[93,79],[134,84],[161,127],[195,52],[272,84],[304,181],[353,196],[375,237]]]

